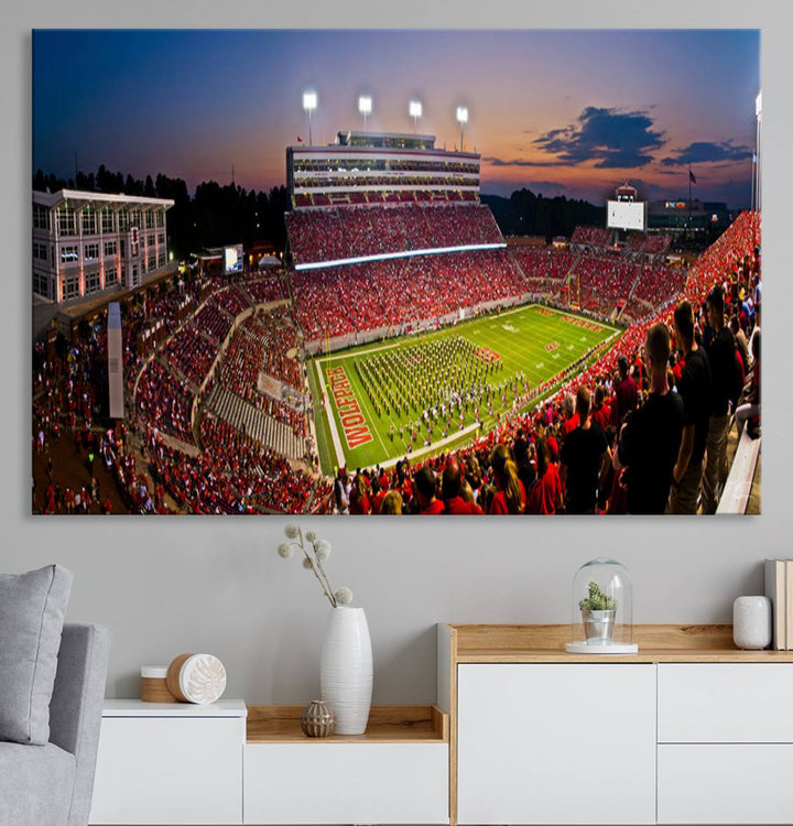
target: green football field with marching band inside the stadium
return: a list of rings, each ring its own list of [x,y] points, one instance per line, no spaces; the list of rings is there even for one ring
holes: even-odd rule
[[[618,334],[528,305],[318,356],[308,374],[322,469],[387,465],[471,442]]]

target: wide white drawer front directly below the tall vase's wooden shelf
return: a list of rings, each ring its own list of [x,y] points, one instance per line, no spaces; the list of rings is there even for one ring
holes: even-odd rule
[[[249,743],[245,822],[448,823],[448,745]]]

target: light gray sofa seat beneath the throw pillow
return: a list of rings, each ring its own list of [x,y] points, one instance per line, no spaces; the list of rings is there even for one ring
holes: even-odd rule
[[[66,826],[75,758],[53,743],[0,742],[0,823]]]

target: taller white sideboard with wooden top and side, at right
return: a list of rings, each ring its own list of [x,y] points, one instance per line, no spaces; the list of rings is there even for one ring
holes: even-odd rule
[[[568,634],[438,626],[452,826],[793,823],[793,652],[730,626],[638,626],[618,655]]]

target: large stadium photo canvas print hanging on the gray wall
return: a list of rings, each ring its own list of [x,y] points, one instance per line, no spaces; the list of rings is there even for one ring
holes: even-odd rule
[[[760,513],[757,30],[32,37],[33,513]]]

